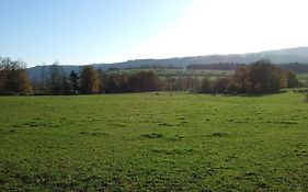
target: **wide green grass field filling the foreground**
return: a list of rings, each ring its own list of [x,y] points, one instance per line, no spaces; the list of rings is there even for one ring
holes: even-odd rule
[[[304,95],[0,98],[0,191],[308,191]]]

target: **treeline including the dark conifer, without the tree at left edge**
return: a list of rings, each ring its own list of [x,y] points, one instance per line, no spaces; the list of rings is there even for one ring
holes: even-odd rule
[[[80,74],[72,70],[66,77],[60,66],[53,65],[45,80],[33,82],[33,89],[36,94],[128,93],[158,91],[160,83],[153,71],[139,71],[132,76],[106,75],[92,66],[84,66]]]

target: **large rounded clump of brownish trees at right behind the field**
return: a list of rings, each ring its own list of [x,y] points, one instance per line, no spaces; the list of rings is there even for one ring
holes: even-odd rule
[[[251,65],[243,65],[227,78],[219,78],[210,83],[208,78],[203,79],[202,90],[204,93],[275,93],[282,88],[296,88],[298,80],[289,70],[282,70],[269,60],[259,60]]]

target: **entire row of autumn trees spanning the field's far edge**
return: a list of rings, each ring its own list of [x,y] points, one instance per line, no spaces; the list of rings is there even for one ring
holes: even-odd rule
[[[106,75],[92,66],[82,67],[80,72],[65,75],[62,67],[55,63],[48,76],[41,81],[30,82],[25,64],[0,58],[0,94],[95,94],[146,91],[193,91],[202,93],[272,93],[281,88],[298,84],[292,71],[284,71],[269,60],[241,65],[229,77],[212,81],[209,77],[158,78],[153,71],[135,75]]]

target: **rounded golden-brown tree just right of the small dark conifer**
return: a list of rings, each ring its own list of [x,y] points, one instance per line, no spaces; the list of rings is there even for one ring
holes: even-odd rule
[[[92,66],[82,67],[80,90],[83,94],[95,94],[100,92],[99,72]]]

